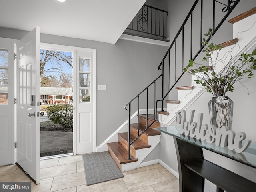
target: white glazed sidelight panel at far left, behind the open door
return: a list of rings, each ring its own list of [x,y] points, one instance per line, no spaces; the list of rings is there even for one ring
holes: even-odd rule
[[[0,38],[0,166],[14,164],[14,42]]]

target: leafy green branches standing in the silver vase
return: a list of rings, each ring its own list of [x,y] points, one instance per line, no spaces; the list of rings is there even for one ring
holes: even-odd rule
[[[204,86],[206,91],[212,93],[213,96],[226,96],[228,91],[232,92],[234,90],[233,85],[236,82],[241,83],[242,79],[253,77],[252,72],[256,70],[256,59],[254,59],[256,49],[251,53],[246,51],[246,53],[236,57],[233,57],[230,51],[224,56],[224,59],[218,60],[221,47],[212,41],[212,33],[212,29],[209,29],[208,33],[204,34],[210,37],[209,42],[205,38],[202,41],[203,52],[206,52],[202,61],[208,62],[212,67],[208,68],[206,65],[189,60],[188,65],[183,70],[187,72],[190,69],[190,73],[197,77],[196,84]],[[213,60],[213,52],[216,53],[216,60]],[[217,71],[217,65],[220,63],[224,66],[222,70]],[[197,67],[197,69],[194,67]]]

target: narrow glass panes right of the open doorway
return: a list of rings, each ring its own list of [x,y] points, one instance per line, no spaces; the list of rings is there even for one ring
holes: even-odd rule
[[[90,59],[79,58],[79,102],[90,102]]]

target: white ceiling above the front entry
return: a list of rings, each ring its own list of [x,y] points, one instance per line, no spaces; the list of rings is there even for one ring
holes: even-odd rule
[[[146,0],[0,0],[0,27],[115,44]]]

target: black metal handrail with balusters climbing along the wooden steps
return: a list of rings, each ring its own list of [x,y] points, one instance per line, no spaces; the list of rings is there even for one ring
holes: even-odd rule
[[[193,48],[193,30],[192,30],[192,26],[193,26],[193,11],[194,9],[196,8],[196,6],[198,5],[198,2],[201,2],[200,3],[200,48],[198,50],[198,52],[196,52],[196,54],[194,54],[194,56],[192,56],[192,48]],[[212,0],[213,2],[213,6],[212,6],[212,29],[214,30],[213,33],[212,33],[212,36],[214,36],[214,34],[217,32],[217,30],[220,28],[220,26],[223,24],[223,22],[226,20],[226,18],[228,18],[228,16],[230,15],[230,13],[232,12],[232,10],[236,7],[236,5],[240,2],[240,0],[227,0],[227,5],[217,1],[217,0]],[[222,20],[219,22],[218,26],[215,27],[215,11],[216,11],[216,7],[215,7],[215,3],[218,2],[222,5],[224,5],[225,7],[222,8],[222,13],[225,13],[225,16],[222,18]],[[129,111],[129,132],[128,132],[128,160],[130,160],[130,145],[132,143],[134,143],[139,137],[140,135],[145,132],[155,121],[156,121],[156,114],[157,114],[157,106],[158,106],[158,102],[162,102],[162,106],[161,106],[161,111],[164,111],[164,100],[165,98],[168,96],[168,94],[170,93],[170,91],[174,88],[174,86],[177,84],[177,82],[182,78],[182,76],[184,75],[184,72],[183,72],[183,68],[184,68],[184,27],[186,26],[186,24],[189,22],[189,19],[190,19],[190,59],[193,59],[195,60],[196,57],[200,54],[200,52],[202,51],[202,49],[204,48],[204,46],[202,45],[202,26],[203,26],[203,0],[195,0],[192,8],[190,9],[190,12],[188,13],[188,15],[186,16],[184,22],[182,23],[182,26],[180,27],[180,29],[178,30],[178,33],[176,34],[174,40],[172,41],[169,49],[167,50],[166,54],[164,55],[164,58],[162,59],[162,61],[160,62],[160,65],[158,66],[158,70],[162,70],[162,74],[160,76],[158,76],[158,78],[156,78],[156,80],[154,80],[148,87],[146,87],[144,90],[142,90],[142,92],[140,92],[140,94],[138,94],[136,97],[134,97],[128,104],[126,104],[125,106],[125,109]],[[177,48],[177,39],[178,37],[180,36],[180,33],[182,32],[182,69],[181,70],[181,74],[180,76],[178,76],[178,78],[176,78],[176,70],[177,70],[177,67],[176,67],[176,48]],[[208,38],[206,41],[208,42],[210,40],[210,38]],[[198,43],[198,44],[199,44]],[[172,84],[172,86],[170,87],[170,52],[171,52],[171,49],[174,48],[174,53],[175,53],[175,56],[174,56],[174,84]],[[168,68],[167,70],[169,71],[168,72],[168,90],[166,91],[166,94],[164,94],[164,64],[165,64],[165,60],[166,58],[169,58],[167,64],[168,64]],[[146,129],[144,129],[144,131],[139,134],[139,117],[138,117],[138,136],[131,142],[130,141],[130,128],[131,128],[131,103],[136,99],[136,98],[140,98],[140,95],[142,93],[144,93],[145,91],[148,92],[148,88],[154,84],[156,86],[156,81],[162,77],[162,87],[161,87],[161,95],[162,95],[162,98],[159,99],[159,100],[156,100],[156,87],[154,88],[154,121],[150,124],[150,125],[147,125],[146,126]],[[148,96],[148,93],[147,93],[147,96]],[[139,103],[139,102],[138,102]],[[147,112],[148,112],[148,98],[146,98],[146,103],[147,103]],[[129,109],[127,109],[126,107],[129,106]],[[140,111],[140,104],[138,105],[138,115],[139,115],[139,111]],[[148,113],[146,114],[146,121],[148,122]]]

